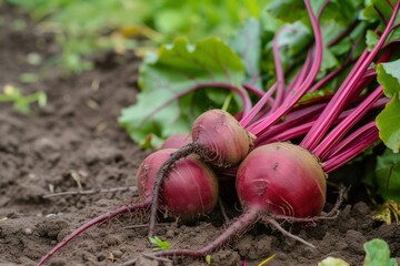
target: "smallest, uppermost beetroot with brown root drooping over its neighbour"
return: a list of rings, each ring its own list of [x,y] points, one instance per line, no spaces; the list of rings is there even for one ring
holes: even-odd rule
[[[238,164],[250,152],[253,136],[228,112],[210,110],[201,114],[192,126],[192,143],[179,149],[160,167],[153,184],[153,198],[149,224],[149,236],[153,236],[160,187],[178,160],[190,154],[216,167]]]

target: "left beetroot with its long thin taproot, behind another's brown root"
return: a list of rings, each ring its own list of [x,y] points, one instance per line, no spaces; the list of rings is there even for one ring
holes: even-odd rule
[[[174,151],[177,150],[160,150],[144,158],[137,174],[140,196],[138,202],[129,203],[126,206],[118,207],[84,223],[46,254],[38,265],[43,265],[59,249],[90,227],[128,212],[148,208],[151,204],[152,185],[158,168]],[[162,208],[168,211],[170,216],[184,221],[193,219],[211,212],[218,201],[216,175],[197,156],[188,156],[176,162],[162,188]]]

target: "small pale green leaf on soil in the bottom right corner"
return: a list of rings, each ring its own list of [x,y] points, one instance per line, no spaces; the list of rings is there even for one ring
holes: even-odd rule
[[[394,258],[390,258],[388,244],[379,238],[367,242],[364,245],[364,266],[397,266]]]

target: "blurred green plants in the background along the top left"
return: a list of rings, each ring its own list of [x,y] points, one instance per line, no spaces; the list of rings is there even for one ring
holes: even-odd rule
[[[229,37],[269,0],[0,0],[28,13],[54,35],[61,53],[53,62],[67,72],[92,68],[90,57],[113,50],[143,54],[177,37],[196,41]],[[23,22],[17,21],[23,28]]]

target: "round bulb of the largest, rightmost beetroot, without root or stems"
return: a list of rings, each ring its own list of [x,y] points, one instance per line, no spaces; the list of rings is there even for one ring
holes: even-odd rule
[[[240,164],[237,191],[246,207],[312,217],[324,205],[326,177],[318,158],[306,149],[271,143],[254,149]]]

